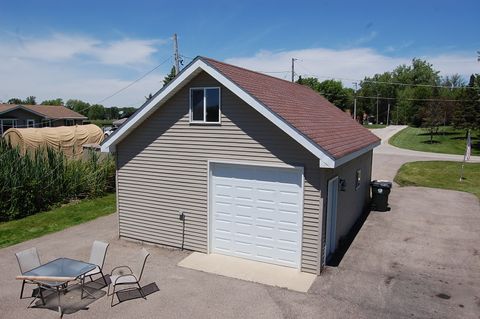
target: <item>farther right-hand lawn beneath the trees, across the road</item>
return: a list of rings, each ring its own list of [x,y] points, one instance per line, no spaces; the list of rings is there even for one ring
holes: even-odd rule
[[[430,135],[427,130],[407,127],[392,136],[389,143],[416,151],[464,154],[466,138],[464,130],[455,130],[447,126],[445,129],[440,128],[439,133],[433,136],[433,144],[430,144]],[[480,155],[480,139],[475,132],[472,132],[472,155]]]

